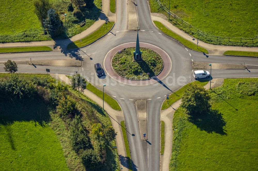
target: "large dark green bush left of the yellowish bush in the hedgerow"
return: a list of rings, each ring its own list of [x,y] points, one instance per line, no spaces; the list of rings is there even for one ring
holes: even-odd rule
[[[86,129],[82,125],[82,120],[76,116],[69,126],[69,138],[72,148],[78,153],[81,149],[91,148],[90,139],[87,136]]]

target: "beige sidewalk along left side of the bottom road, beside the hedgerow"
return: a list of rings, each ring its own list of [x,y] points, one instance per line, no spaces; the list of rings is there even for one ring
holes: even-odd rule
[[[70,84],[70,79],[67,78],[64,74],[50,74],[51,77],[58,79],[60,81],[65,82],[66,84]],[[96,94],[94,94],[93,92],[85,89],[84,92],[85,96],[87,96],[88,98],[92,99],[93,101],[95,101],[99,106],[103,105],[103,100],[101,98],[99,98],[98,96],[96,96]],[[118,111],[118,110],[114,110],[112,109],[107,102],[104,101],[104,109],[105,111],[108,113],[112,127],[115,129],[115,131],[117,132],[116,135],[116,145],[117,145],[117,152],[118,152],[118,156],[119,156],[119,160],[120,158],[126,158],[126,150],[125,150],[125,145],[124,145],[124,138],[123,138],[123,134],[122,134],[122,129],[120,126],[120,122],[124,120],[124,114],[123,111]],[[122,162],[122,163],[121,163]],[[124,161],[120,160],[120,167],[123,167],[123,171],[124,170],[128,170],[128,166],[127,163],[125,163]]]

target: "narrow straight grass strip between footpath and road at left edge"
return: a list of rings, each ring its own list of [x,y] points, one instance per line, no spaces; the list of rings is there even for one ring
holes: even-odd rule
[[[0,53],[37,52],[37,51],[52,51],[52,49],[48,46],[0,48]]]

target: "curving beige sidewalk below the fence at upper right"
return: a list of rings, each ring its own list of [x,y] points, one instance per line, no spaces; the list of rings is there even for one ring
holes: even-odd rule
[[[162,23],[165,27],[169,30],[173,31],[174,33],[180,35],[184,39],[192,42],[197,43],[196,39],[189,34],[185,33],[184,31],[180,30],[178,27],[174,26],[170,22],[167,21],[167,17],[164,14],[160,13],[151,13],[151,20],[158,21]],[[194,40],[193,40],[194,39]],[[244,47],[244,46],[225,46],[225,45],[214,45],[205,43],[199,40],[198,46],[201,46],[208,50],[210,55],[223,55],[225,51],[248,51],[248,52],[258,52],[257,47]]]

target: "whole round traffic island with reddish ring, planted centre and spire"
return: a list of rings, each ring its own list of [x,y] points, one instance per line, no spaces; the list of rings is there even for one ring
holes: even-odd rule
[[[138,71],[134,72],[134,73],[137,73],[137,75],[131,74],[131,75],[135,75],[135,77],[128,78],[124,75],[121,75],[122,72],[120,72],[120,74],[118,74],[119,73],[118,63],[124,63],[124,61],[122,61],[122,62],[118,61],[119,57],[121,57],[121,58],[124,57],[123,55],[119,55],[119,53],[122,53],[123,51],[127,50],[127,48],[132,48],[134,46],[135,46],[135,42],[121,44],[119,46],[116,46],[115,48],[113,48],[112,50],[110,50],[107,53],[107,55],[104,58],[104,70],[111,78],[113,78],[121,83],[124,83],[124,84],[129,84],[129,85],[133,85],[133,86],[143,86],[143,85],[148,85],[148,84],[153,84],[153,83],[159,82],[160,80],[164,79],[168,75],[168,73],[171,71],[171,67],[172,67],[172,62],[171,62],[170,57],[164,50],[158,48],[155,45],[149,44],[149,43],[140,43],[140,47],[144,48],[143,50],[149,51],[150,54],[152,54],[152,55],[156,53],[157,56],[155,58],[156,59],[155,62],[157,65],[156,65],[156,67],[152,67],[152,68],[155,68],[155,69],[158,68],[158,69],[156,69],[156,70],[154,69],[155,71],[152,70],[151,67],[146,69],[146,67],[148,67],[150,64],[148,65],[144,61],[145,58],[143,57],[143,62],[139,62],[139,65],[134,64],[134,66],[136,65],[136,67],[138,67],[136,69],[139,69],[139,71],[140,71],[140,72],[138,72]],[[130,56],[130,54],[128,56]],[[133,55],[131,55],[131,56],[133,56]],[[143,56],[144,56],[144,53],[143,53]],[[133,58],[131,60],[133,60]],[[146,60],[148,61],[148,59],[146,59]],[[143,64],[143,63],[145,63],[145,64]],[[115,69],[112,67],[112,65],[115,66]],[[145,67],[145,69],[140,68],[140,67]],[[127,70],[131,72],[131,71],[133,71],[133,68],[127,68]]]

